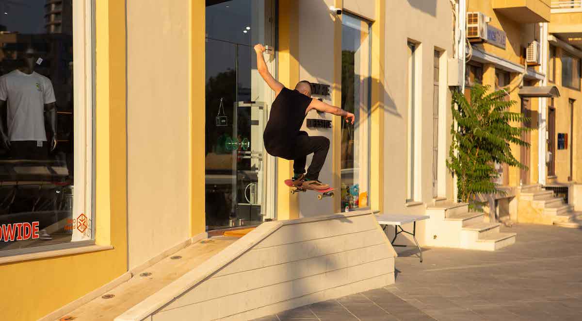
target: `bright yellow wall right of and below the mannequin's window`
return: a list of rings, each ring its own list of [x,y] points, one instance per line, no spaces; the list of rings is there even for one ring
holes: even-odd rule
[[[125,3],[97,1],[95,237],[110,251],[0,266],[2,320],[36,320],[126,271]]]

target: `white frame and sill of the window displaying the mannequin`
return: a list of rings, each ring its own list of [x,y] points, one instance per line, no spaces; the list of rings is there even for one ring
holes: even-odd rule
[[[81,4],[81,5],[80,5]],[[71,218],[85,214],[90,237],[75,234],[66,243],[1,251],[0,257],[79,248],[95,244],[95,0],[73,3],[73,211]],[[81,67],[79,67],[81,66]],[[87,214],[88,213],[88,214]]]

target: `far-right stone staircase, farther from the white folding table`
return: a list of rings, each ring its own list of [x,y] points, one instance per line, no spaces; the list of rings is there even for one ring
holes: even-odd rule
[[[518,222],[572,228],[582,226],[580,221],[582,213],[575,212],[573,205],[565,204],[563,199],[555,197],[552,191],[546,191],[537,184],[520,186],[518,191]]]

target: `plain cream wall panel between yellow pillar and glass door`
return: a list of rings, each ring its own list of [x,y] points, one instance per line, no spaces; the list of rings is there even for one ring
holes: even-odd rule
[[[127,1],[129,269],[190,237],[189,8]]]

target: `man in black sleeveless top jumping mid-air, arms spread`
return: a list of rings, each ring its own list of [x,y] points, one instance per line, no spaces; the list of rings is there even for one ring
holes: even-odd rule
[[[269,73],[262,55],[265,47],[257,44],[254,50],[257,53],[258,72],[275,91],[276,96],[263,133],[267,153],[293,160],[293,185],[306,189],[329,188],[328,184],[323,184],[318,180],[329,150],[329,139],[323,136],[311,137],[299,129],[310,110],[345,117],[346,122],[351,124],[354,124],[354,114],[311,98],[311,85],[306,80],[297,83],[294,90],[285,88]],[[313,160],[307,169],[307,174],[304,174],[307,155],[311,153],[313,153]]]

